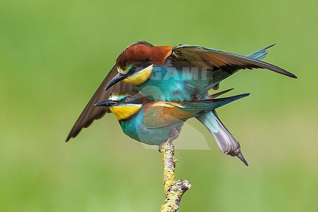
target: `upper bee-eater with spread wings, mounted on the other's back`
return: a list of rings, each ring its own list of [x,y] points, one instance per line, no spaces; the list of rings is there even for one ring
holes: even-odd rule
[[[118,56],[116,65],[76,121],[67,141],[94,119],[109,112],[94,108],[93,104],[108,99],[111,92],[138,90],[149,100],[191,101],[206,98],[210,89],[217,89],[222,80],[241,69],[262,68],[296,78],[288,71],[259,60],[267,55],[267,48],[242,56],[193,45],[155,47],[146,41],[136,41]],[[196,118],[208,128],[222,152],[244,160],[239,142],[215,111]]]

